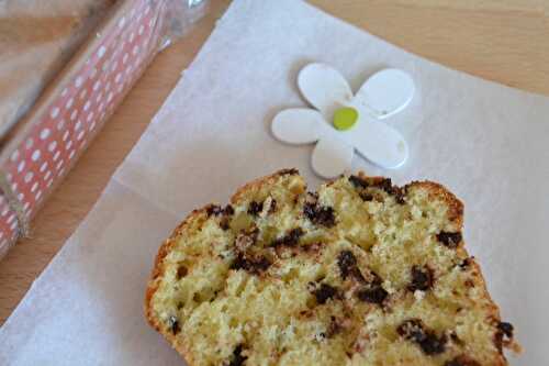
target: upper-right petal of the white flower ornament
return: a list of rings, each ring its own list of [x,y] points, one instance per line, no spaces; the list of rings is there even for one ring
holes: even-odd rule
[[[406,108],[414,92],[414,80],[408,74],[388,68],[366,80],[352,102],[371,110],[377,118],[385,119]]]

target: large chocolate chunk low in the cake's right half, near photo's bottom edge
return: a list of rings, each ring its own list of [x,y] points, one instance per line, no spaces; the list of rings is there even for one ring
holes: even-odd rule
[[[437,336],[432,330],[427,330],[419,319],[404,321],[396,332],[404,339],[417,343],[427,355],[438,355],[446,350],[446,335]]]

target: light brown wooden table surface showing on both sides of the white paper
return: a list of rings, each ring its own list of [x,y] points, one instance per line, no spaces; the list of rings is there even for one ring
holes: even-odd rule
[[[312,0],[415,54],[490,80],[549,95],[545,0]],[[85,219],[116,166],[160,108],[228,0],[161,53],[33,222],[31,239],[0,262],[0,324]]]

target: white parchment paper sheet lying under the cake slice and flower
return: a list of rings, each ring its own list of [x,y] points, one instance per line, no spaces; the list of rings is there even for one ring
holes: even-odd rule
[[[304,106],[298,70],[324,62],[356,90],[373,71],[408,71],[417,95],[388,120],[411,158],[381,170],[432,179],[466,203],[464,235],[504,320],[526,353],[549,354],[549,98],[449,70],[294,0],[236,0],[184,71],[92,212],[0,329],[0,365],[180,365],[143,317],[160,242],[193,208],[242,184],[298,167],[311,186],[312,146],[269,134],[272,117]]]

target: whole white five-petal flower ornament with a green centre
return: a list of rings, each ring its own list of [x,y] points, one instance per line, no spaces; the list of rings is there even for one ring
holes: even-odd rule
[[[316,108],[292,108],[272,120],[274,137],[289,144],[316,142],[311,165],[324,178],[349,169],[355,149],[383,168],[406,162],[408,146],[395,129],[381,122],[412,100],[414,81],[399,69],[372,75],[352,96],[345,78],[328,65],[309,64],[299,74],[298,86]]]

